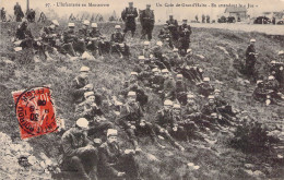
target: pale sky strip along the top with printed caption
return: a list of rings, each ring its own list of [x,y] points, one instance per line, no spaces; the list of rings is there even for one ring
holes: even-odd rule
[[[138,9],[145,9],[145,4],[150,3],[151,9],[155,12],[156,20],[166,20],[168,14],[173,12],[175,19],[182,20],[193,20],[198,14],[200,17],[202,14],[210,15],[212,20],[216,19],[218,15],[222,15],[225,11],[224,7],[218,7],[222,4],[225,5],[248,5],[252,4],[248,9],[248,14],[250,16],[261,15],[262,12],[271,11],[284,11],[284,0],[29,0],[29,8],[38,9],[43,12],[47,12],[52,9],[58,15],[70,15],[71,13],[76,14],[79,12],[91,12],[91,13],[100,13],[100,14],[113,14],[116,11],[116,14],[120,16],[121,11],[125,7],[128,7],[128,2],[132,1],[134,7]],[[9,14],[13,14],[13,5],[15,2],[19,2],[22,9],[26,10],[26,0],[1,0],[0,7],[4,7]],[[94,3],[94,4],[109,4],[109,7],[57,7],[58,3]],[[47,5],[49,3],[49,5]],[[161,4],[161,5],[157,5]],[[167,4],[174,4],[174,7],[167,7]],[[181,7],[176,7],[179,3]],[[182,7],[184,4],[192,5],[199,3],[200,5],[196,7]],[[212,8],[211,4],[214,3],[216,7]],[[206,7],[202,7],[206,5]]]

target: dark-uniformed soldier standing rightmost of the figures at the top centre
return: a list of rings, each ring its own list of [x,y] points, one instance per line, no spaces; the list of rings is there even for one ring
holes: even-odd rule
[[[179,26],[179,51],[185,53],[189,48],[191,27],[187,24],[187,20],[182,20],[182,25]]]

